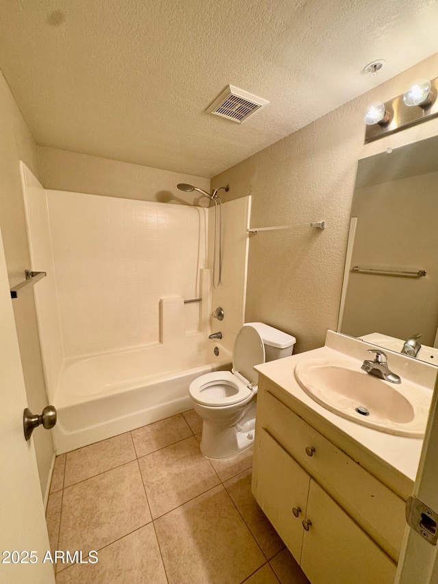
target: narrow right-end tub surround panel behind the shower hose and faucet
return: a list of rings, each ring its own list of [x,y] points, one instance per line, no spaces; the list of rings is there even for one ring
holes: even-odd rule
[[[235,188],[234,186],[232,188]],[[220,196],[222,197],[220,191]],[[213,332],[222,332],[222,344],[233,351],[237,333],[244,325],[251,197],[222,204],[222,283],[212,290],[212,309],[224,309],[224,320],[210,317]],[[209,267],[213,270],[214,207],[209,208]],[[210,341],[211,342],[211,341]]]

